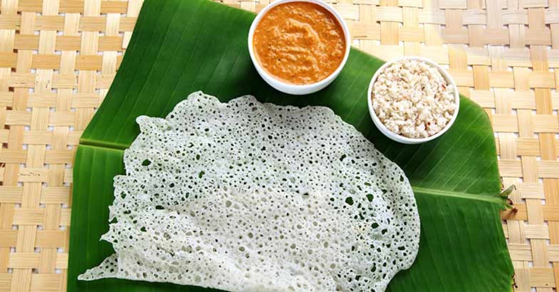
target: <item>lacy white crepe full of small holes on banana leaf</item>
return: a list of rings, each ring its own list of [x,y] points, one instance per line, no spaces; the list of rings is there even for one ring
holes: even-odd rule
[[[329,108],[196,92],[136,121],[102,236],[116,253],[78,279],[382,291],[413,263],[408,179]]]

